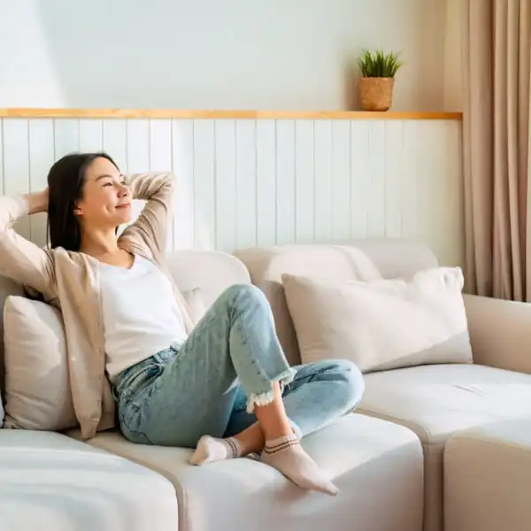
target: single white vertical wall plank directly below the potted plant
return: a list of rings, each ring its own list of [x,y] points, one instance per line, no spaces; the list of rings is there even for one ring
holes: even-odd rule
[[[385,124],[383,120],[373,120],[367,124],[369,135],[367,236],[369,238],[385,236]]]

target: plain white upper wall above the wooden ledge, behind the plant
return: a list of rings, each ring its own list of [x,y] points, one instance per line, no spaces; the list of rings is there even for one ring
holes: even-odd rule
[[[0,0],[0,107],[344,109],[346,61],[383,47],[395,110],[456,111],[447,2]]]

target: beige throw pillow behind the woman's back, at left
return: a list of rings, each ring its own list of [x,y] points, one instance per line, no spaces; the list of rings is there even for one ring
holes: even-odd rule
[[[58,431],[77,426],[60,312],[23,296],[8,297],[4,350],[4,427]]]

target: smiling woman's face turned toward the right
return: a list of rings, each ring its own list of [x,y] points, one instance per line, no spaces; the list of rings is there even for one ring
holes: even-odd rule
[[[110,160],[96,158],[85,173],[83,194],[74,213],[83,227],[107,230],[131,219],[131,191]]]

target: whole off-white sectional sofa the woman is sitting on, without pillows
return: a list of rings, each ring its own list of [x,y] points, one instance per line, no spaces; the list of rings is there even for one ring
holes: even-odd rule
[[[301,358],[283,273],[348,280],[374,266],[385,278],[411,278],[437,261],[422,245],[363,240],[255,248],[235,256],[182,250],[168,257],[168,265],[181,291],[198,292],[204,307],[235,283],[263,289],[296,365]],[[22,296],[21,289],[0,281],[0,306],[10,295]],[[128,443],[116,429],[88,442],[79,440],[75,428],[2,429],[0,504],[8,516],[0,519],[0,531],[494,531],[507,521],[512,531],[523,531],[531,515],[522,496],[508,505],[510,496],[485,494],[481,487],[494,472],[515,488],[525,489],[525,477],[531,477],[531,441],[521,435],[525,418],[531,419],[531,308],[465,300],[473,363],[368,372],[358,410],[304,438],[304,448],[340,489],[338,496],[298,489],[252,458],[190,466],[191,450]],[[484,455],[501,463],[494,472],[489,461],[474,461],[474,449],[485,441],[496,450]],[[508,451],[512,467],[505,470]],[[488,507],[481,507],[484,499]],[[490,507],[496,518],[485,515]],[[516,511],[512,519],[509,509]],[[498,527],[479,525],[486,521]]]

